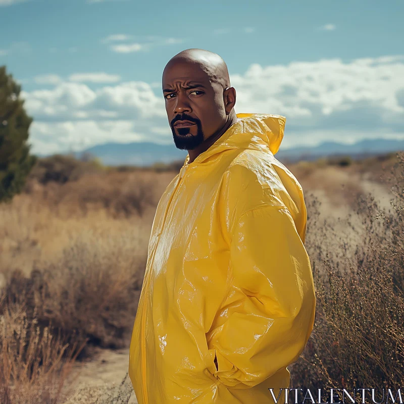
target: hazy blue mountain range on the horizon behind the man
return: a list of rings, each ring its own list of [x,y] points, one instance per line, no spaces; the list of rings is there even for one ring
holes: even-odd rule
[[[354,144],[342,144],[336,142],[323,142],[317,146],[298,146],[282,149],[282,145],[276,158],[280,161],[295,162],[299,160],[316,160],[320,157],[337,155],[372,156],[391,151],[404,150],[404,139],[364,139]],[[76,157],[87,153],[98,157],[103,164],[110,166],[135,165],[149,166],[155,163],[171,163],[184,160],[187,151],[179,150],[172,144],[156,144],[151,142],[133,143],[105,143],[87,148],[74,153]],[[39,157],[45,157],[40,156]]]

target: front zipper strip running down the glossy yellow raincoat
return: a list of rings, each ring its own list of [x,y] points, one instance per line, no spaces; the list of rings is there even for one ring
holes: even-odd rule
[[[164,213],[164,218],[163,218],[163,224],[161,225],[161,227],[160,227],[160,229],[159,229],[159,234],[157,235],[157,242],[156,242],[156,246],[155,246],[155,248],[154,248],[154,250],[153,250],[153,258],[151,259],[151,262],[150,262],[150,266],[149,266],[149,268],[150,268],[150,271],[148,271],[149,272],[149,274],[148,274],[148,276],[147,276],[147,278],[145,279],[145,281],[146,281],[146,285],[145,285],[145,291],[147,291],[147,288],[148,288],[148,283],[149,283],[149,278],[150,278],[150,272],[151,272],[151,268],[153,268],[153,263],[154,263],[154,259],[155,259],[155,255],[156,255],[156,250],[157,250],[157,247],[158,247],[158,245],[159,245],[159,240],[160,240],[160,235],[162,234],[162,232],[163,232],[163,229],[164,229],[164,225],[165,225],[165,223],[166,223],[166,219],[167,219],[167,215],[168,215],[168,211],[169,211],[169,209],[170,209],[170,207],[171,207],[171,203],[172,203],[172,201],[173,201],[173,199],[174,199],[174,196],[175,196],[175,194],[177,193],[177,190],[178,190],[178,188],[179,188],[179,186],[180,186],[180,184],[181,184],[181,182],[182,182],[182,180],[184,179],[184,173],[185,173],[185,170],[186,170],[186,166],[187,166],[187,164],[186,165],[184,165],[182,168],[181,168],[181,171],[180,171],[180,176],[179,176],[179,178],[178,178],[178,182],[177,182],[177,185],[175,186],[175,189],[174,189],[174,191],[173,191],[173,193],[172,193],[172,195],[171,195],[171,198],[170,198],[170,200],[169,200],[169,203],[167,204],[167,208],[166,208],[166,211],[165,211],[165,213]],[[148,397],[147,397],[147,389],[146,389],[146,333],[145,333],[145,326],[146,326],[146,316],[145,316],[145,313],[146,313],[146,304],[145,304],[145,302],[143,302],[143,307],[142,307],[142,323],[141,323],[141,341],[140,341],[140,343],[141,343],[141,352],[142,352],[142,356],[141,356],[141,364],[142,364],[142,395],[143,395],[143,404],[148,404]]]

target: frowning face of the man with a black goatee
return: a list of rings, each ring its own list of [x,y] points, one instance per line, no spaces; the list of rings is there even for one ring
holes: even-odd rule
[[[223,87],[197,64],[172,61],[163,74],[163,94],[174,143],[192,150],[226,123]]]

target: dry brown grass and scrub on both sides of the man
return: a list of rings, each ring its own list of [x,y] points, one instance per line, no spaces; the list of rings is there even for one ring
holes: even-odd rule
[[[287,165],[307,198],[318,296],[293,387],[402,384],[404,181],[400,166],[390,172],[396,162]],[[23,194],[0,205],[2,404],[65,402],[76,358],[94,345],[128,344],[154,212],[176,174],[167,171],[174,166],[64,164],[43,164]],[[131,392],[126,377],[113,391],[88,389],[66,402],[127,403]]]

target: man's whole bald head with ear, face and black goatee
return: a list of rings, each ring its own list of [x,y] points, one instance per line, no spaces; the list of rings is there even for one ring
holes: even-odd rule
[[[226,63],[204,49],[186,49],[170,59],[163,72],[163,94],[178,148],[197,149],[236,118],[236,92]]]

